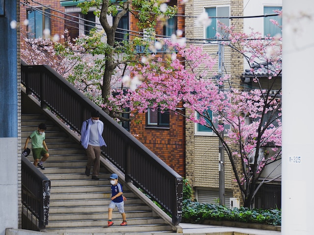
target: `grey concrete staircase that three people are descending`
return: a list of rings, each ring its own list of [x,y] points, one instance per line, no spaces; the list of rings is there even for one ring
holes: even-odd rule
[[[26,138],[39,123],[47,124],[46,143],[50,157],[41,170],[51,180],[51,200],[47,232],[55,233],[171,233],[176,227],[169,224],[152,207],[123,185],[128,226],[120,226],[121,214],[113,211],[114,225],[107,227],[108,205],[111,197],[108,180],[112,169],[101,164],[100,180],[85,175],[85,150],[68,135],[55,120],[44,113],[22,114],[22,147]],[[28,147],[31,148],[30,141]],[[27,157],[33,162],[32,153]],[[104,162],[104,161],[103,161]],[[91,169],[92,171],[92,169]]]

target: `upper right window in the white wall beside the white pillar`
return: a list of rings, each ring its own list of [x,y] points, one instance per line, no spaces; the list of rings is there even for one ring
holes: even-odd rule
[[[282,7],[280,6],[264,6],[264,14],[275,14],[275,10],[281,11]],[[273,23],[270,20],[275,20],[279,25],[282,25],[282,18],[280,16],[269,16],[264,17],[264,35],[270,35],[271,37],[276,34],[281,34],[281,28]]]

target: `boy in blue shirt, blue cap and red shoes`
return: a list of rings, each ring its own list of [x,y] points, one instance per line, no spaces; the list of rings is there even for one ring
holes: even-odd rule
[[[115,207],[118,208],[119,212],[122,215],[123,222],[120,224],[121,226],[126,226],[128,225],[127,223],[127,216],[126,213],[124,212],[124,201],[127,200],[123,194],[122,186],[118,183],[118,175],[117,174],[112,174],[110,176],[110,184],[111,184],[111,202],[109,204],[109,209],[108,209],[108,227],[113,225],[112,222],[112,211]]]

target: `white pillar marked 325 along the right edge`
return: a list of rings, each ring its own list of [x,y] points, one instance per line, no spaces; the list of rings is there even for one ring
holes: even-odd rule
[[[284,0],[282,234],[314,231],[314,1]],[[302,82],[300,82],[302,81]],[[291,108],[292,107],[292,108]],[[296,120],[296,115],[302,117]],[[310,121],[311,123],[311,121]]]

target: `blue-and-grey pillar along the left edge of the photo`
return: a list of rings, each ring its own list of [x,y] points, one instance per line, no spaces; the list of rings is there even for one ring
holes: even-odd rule
[[[5,0],[4,14],[0,15],[0,235],[6,228],[18,228],[19,223],[18,56],[14,27],[18,6],[19,1]]]

